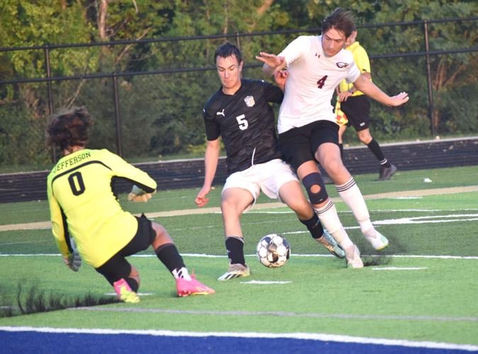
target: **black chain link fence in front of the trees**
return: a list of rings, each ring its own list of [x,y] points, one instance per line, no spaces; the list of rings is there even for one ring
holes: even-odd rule
[[[478,132],[478,47],[460,47],[460,42],[452,41],[443,50],[430,50],[427,36],[457,21],[474,28],[476,20],[359,28],[358,40],[370,55],[374,82],[387,93],[407,91],[411,97],[399,109],[372,103],[374,137],[394,141]],[[392,28],[410,38],[413,32],[413,38],[421,38],[421,42],[411,42],[408,47],[406,38],[400,45],[390,40],[385,47],[374,42],[377,32]],[[237,43],[244,54],[244,77],[266,79],[254,55],[260,50],[277,53],[297,35],[310,33],[317,29],[0,48],[0,62],[36,58],[39,63],[33,63],[28,78],[12,73],[0,81],[0,171],[49,169],[57,152],[45,147],[45,125],[51,113],[70,105],[86,106],[95,119],[91,148],[110,149],[130,162],[203,156],[202,108],[220,87],[212,62],[215,48],[224,40]],[[98,57],[113,50],[120,53],[127,46],[135,47],[136,59],[98,61]],[[75,55],[84,61],[81,70],[65,67],[65,58]],[[454,82],[440,86],[440,75]]]

